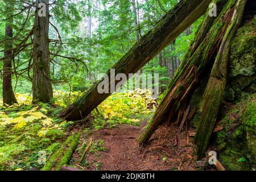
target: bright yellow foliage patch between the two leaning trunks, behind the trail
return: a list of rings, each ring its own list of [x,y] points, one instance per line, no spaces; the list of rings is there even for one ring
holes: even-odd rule
[[[156,101],[149,90],[114,93],[93,111],[93,126],[96,129],[118,123],[138,126],[142,120],[151,117],[155,106]]]

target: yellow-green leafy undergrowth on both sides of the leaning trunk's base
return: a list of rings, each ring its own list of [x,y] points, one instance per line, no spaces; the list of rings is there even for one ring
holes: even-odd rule
[[[54,105],[32,105],[30,94],[16,93],[19,104],[0,107],[0,170],[39,170],[69,135],[73,122],[58,118],[60,111],[82,92],[54,93]],[[2,103],[2,101],[0,101]],[[114,93],[92,112],[93,128],[117,124],[140,125],[156,106],[149,90]],[[89,129],[91,130],[91,129]],[[103,148],[101,148],[103,150]],[[100,164],[99,164],[100,165]]]

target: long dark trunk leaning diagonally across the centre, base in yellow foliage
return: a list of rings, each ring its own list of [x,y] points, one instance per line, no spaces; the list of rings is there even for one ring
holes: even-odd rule
[[[124,73],[128,76],[129,73],[137,73],[148,61],[158,55],[177,36],[200,18],[207,10],[209,3],[210,0],[184,0],[179,2],[159,20],[154,29],[139,39],[134,47],[114,65],[112,69],[115,69],[115,74]],[[110,78],[110,70],[107,75]],[[80,100],[69,106],[60,117],[64,117],[67,120],[79,120],[96,109],[111,94],[98,93],[98,84],[103,80],[102,78],[96,82]],[[115,81],[115,79],[109,80],[108,88],[110,88],[110,85],[115,86],[119,82]]]

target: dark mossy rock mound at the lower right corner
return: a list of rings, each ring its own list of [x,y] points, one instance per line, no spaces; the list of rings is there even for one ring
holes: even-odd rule
[[[256,95],[232,107],[219,125],[214,138],[220,150],[219,158],[228,170],[256,168]]]

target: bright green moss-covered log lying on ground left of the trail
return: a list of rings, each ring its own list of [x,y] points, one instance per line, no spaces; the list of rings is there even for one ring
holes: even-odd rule
[[[68,164],[79,142],[80,135],[81,133],[70,135],[63,145],[52,154],[41,171],[51,171],[52,169],[60,171],[62,166]]]

